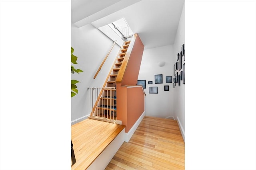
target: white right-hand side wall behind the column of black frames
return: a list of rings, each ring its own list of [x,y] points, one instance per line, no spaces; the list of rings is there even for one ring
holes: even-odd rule
[[[173,44],[172,68],[174,66],[174,63],[178,62],[177,54],[180,53],[182,45],[185,44],[184,33],[185,33],[185,17],[184,17],[184,6],[183,6],[182,14],[180,16],[180,22],[178,25],[175,41]],[[185,44],[185,49],[186,49],[186,44]],[[185,51],[185,55],[186,55],[186,51]],[[185,63],[184,56],[182,57],[182,64],[183,63]],[[178,74],[180,74],[180,71],[178,71]],[[178,124],[180,126],[180,131],[182,132],[182,137],[185,141],[185,84],[183,84],[182,81],[180,82],[180,86],[178,86],[178,83],[176,83],[173,97],[174,97],[174,119],[178,121]]]

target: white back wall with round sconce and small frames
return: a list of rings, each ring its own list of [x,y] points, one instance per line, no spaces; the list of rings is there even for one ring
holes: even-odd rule
[[[173,76],[173,47],[172,45],[145,49],[142,56],[138,80],[146,80],[146,116],[169,118],[173,116],[173,84],[166,83],[166,76]],[[165,65],[158,66],[159,62]],[[163,83],[155,84],[154,75],[163,74]],[[153,84],[148,84],[153,81]],[[169,86],[169,91],[164,91],[164,86]],[[158,94],[149,94],[148,87],[157,86]]]

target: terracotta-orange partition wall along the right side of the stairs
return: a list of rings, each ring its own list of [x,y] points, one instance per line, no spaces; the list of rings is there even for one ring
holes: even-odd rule
[[[134,35],[130,58],[127,63],[122,82],[116,83],[116,108],[117,119],[125,125],[128,133],[134,123],[145,111],[145,97],[142,86],[136,86],[140,71],[140,64],[144,45],[138,34]],[[133,42],[131,41],[130,44]],[[129,50],[130,46],[128,47]],[[127,55],[127,54],[126,54]]]

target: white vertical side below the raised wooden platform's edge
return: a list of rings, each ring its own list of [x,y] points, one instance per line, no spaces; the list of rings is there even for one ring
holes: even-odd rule
[[[123,143],[124,129],[108,145],[108,147],[102,151],[102,153],[94,160],[94,162],[92,162],[87,170],[104,170]]]

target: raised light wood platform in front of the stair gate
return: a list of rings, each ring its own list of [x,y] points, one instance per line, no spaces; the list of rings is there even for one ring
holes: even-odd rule
[[[124,129],[124,125],[85,119],[71,126],[76,163],[71,170],[87,169]]]

